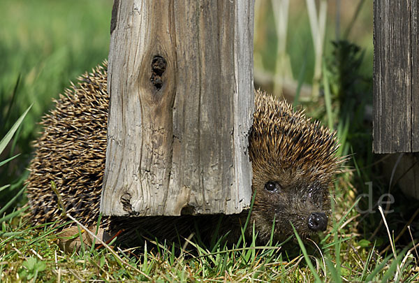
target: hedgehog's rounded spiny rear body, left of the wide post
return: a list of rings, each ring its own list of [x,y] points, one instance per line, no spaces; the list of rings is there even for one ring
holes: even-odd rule
[[[27,195],[36,222],[57,219],[59,205],[51,181],[66,210],[83,224],[95,224],[105,169],[108,94],[107,62],[71,84],[43,117],[43,133],[34,144]]]

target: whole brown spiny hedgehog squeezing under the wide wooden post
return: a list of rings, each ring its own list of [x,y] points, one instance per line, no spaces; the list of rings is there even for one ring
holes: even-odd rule
[[[94,226],[105,170],[107,61],[80,76],[77,85],[71,82],[54,103],[55,108],[42,119],[43,133],[34,142],[29,165],[27,196],[32,219],[36,224],[63,223],[60,196],[68,214],[85,226]],[[250,212],[221,218],[101,217],[100,225],[110,235],[124,229],[122,238],[126,239],[133,235],[188,237],[197,227],[203,235],[219,231],[235,239],[250,213],[245,231],[249,238],[254,229],[260,242],[269,240],[272,233],[274,240],[284,241],[294,235],[293,226],[300,237],[310,238],[327,228],[329,189],[342,161],[337,157],[338,147],[335,133],[320,122],[258,90],[249,132],[254,194]],[[51,189],[52,181],[58,194]],[[215,229],[219,223],[221,228]]]

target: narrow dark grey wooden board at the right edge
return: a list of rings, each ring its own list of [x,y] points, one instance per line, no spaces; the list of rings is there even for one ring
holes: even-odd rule
[[[418,0],[374,0],[376,153],[419,152]]]

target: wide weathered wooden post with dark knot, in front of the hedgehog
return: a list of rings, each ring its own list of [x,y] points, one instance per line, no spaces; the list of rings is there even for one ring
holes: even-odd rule
[[[249,206],[252,52],[253,0],[115,0],[103,214]]]

